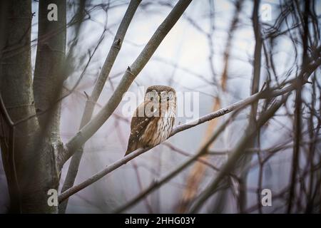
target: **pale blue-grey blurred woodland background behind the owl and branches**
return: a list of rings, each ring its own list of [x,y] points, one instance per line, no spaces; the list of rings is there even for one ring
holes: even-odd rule
[[[78,2],[67,2],[68,22],[76,14]],[[141,2],[93,115],[108,101],[126,68],[135,61],[176,2]],[[78,131],[86,94],[91,94],[128,3],[129,1],[123,0],[87,1],[86,16],[81,28],[77,30],[72,24],[67,28],[67,50],[73,44],[75,49],[71,73],[63,89],[71,90],[84,70],[85,73],[71,95],[63,99],[63,142],[67,142]],[[198,105],[191,107],[197,107],[198,110],[193,111],[197,111],[200,116],[247,98],[251,95],[257,43],[253,29],[253,8],[254,1],[192,1],[129,90],[142,94],[144,91],[141,86],[147,88],[152,85],[165,85],[180,93],[196,92]],[[320,46],[321,2],[310,1],[310,9],[309,45],[317,47]],[[280,86],[283,82],[297,77],[302,68],[304,10],[305,1],[260,1],[260,27],[257,29],[262,36],[259,90],[266,85]],[[32,11],[37,15],[37,1],[33,1]],[[37,16],[34,16],[31,33],[33,67],[36,58],[37,20]],[[300,181],[295,187],[297,197],[294,212],[306,212],[305,205],[310,202],[311,195],[315,196],[312,198],[310,212],[320,212],[320,68],[312,74],[310,82],[302,89],[302,134],[297,171]],[[136,103],[141,101],[141,98],[135,100]],[[126,102],[128,101],[123,100],[112,117],[86,142],[75,184],[123,157],[131,120],[131,117],[124,115],[122,111]],[[178,99],[178,102],[183,100]],[[270,100],[270,103],[272,102],[273,100]],[[258,103],[258,115],[264,113],[265,105],[265,100]],[[248,150],[253,153],[247,158],[248,162],[241,162],[234,171],[243,183],[231,178],[229,185],[220,188],[210,197],[200,212],[287,211],[288,186],[292,172],[294,112],[295,93],[291,94],[285,105],[263,125],[255,142],[248,145]],[[66,212],[113,212],[198,152],[205,140],[229,116],[230,114],[223,115],[215,121],[178,133],[162,145],[136,157],[73,195],[69,199]],[[126,212],[187,212],[186,202],[193,202],[213,180],[217,174],[216,168],[226,162],[229,152],[247,129],[249,119],[250,107],[238,113],[210,146],[211,154],[203,157],[205,162],[194,162]],[[190,116],[180,116],[175,125],[188,120],[191,120]],[[61,173],[61,186],[66,178],[68,164],[69,162],[64,165]],[[315,172],[311,174],[311,170]],[[263,189],[270,189],[272,192],[270,207],[260,204]],[[0,212],[5,212],[9,195],[2,166],[0,192]]]

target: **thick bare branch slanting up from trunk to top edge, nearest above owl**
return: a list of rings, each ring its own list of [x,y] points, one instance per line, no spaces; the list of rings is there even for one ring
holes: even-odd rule
[[[173,10],[170,11],[170,14],[168,14],[163,23],[157,28],[156,32],[148,41],[141,54],[136,58],[136,61],[133,62],[131,67],[127,68],[127,71],[124,73],[121,82],[111,96],[110,100],[108,100],[108,103],[89,123],[83,126],[83,128],[81,128],[81,130],[79,130],[78,133],[66,143],[66,150],[64,150],[58,156],[59,167],[62,167],[66,160],[68,160],[68,158],[71,157],[71,155],[73,155],[73,153],[76,152],[76,150],[81,147],[83,143],[91,138],[91,136],[96,133],[99,128],[101,128],[101,125],[103,125],[106,120],[108,120],[113,111],[117,108],[118,104],[121,102],[123,94],[126,93],[138,73],[140,73],[143,67],[146,66],[146,63],[148,63],[151,56],[153,56],[153,53],[161,44],[163,38],[165,38],[170,29],[173,28],[191,1],[192,0],[180,0],[175,5]]]

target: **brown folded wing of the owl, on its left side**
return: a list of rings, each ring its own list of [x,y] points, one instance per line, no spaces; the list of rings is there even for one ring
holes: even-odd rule
[[[131,135],[129,136],[125,156],[143,146],[141,145],[140,138],[145,133],[148,124],[152,123],[154,118],[156,118],[154,116],[148,117],[145,115],[145,107],[149,102],[150,101],[146,101],[141,103],[141,105],[138,105],[133,118],[131,118]],[[139,116],[138,113],[140,115],[143,114],[143,116]]]

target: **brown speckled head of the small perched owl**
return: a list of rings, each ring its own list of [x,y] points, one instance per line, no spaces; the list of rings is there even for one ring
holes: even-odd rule
[[[150,86],[145,93],[145,101],[167,103],[176,101],[176,92],[170,86]]]

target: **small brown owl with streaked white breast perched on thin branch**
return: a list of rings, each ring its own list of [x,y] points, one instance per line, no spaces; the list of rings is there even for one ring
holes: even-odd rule
[[[150,86],[143,103],[131,118],[131,135],[126,155],[138,148],[158,145],[173,129],[176,114],[176,93],[169,86]]]

